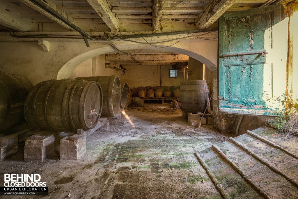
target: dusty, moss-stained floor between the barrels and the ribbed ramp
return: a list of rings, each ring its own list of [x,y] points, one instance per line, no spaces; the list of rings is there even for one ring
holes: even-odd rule
[[[94,132],[78,161],[60,161],[56,151],[44,162],[24,162],[22,152],[1,162],[0,176],[39,173],[49,186],[49,196],[9,198],[221,198],[193,153],[225,137],[211,126],[190,127],[170,104],[125,113],[131,123],[122,115],[109,131]]]

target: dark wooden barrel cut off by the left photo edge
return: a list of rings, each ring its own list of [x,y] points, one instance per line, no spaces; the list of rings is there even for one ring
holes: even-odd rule
[[[24,120],[24,103],[32,84],[18,75],[0,72],[0,132]]]

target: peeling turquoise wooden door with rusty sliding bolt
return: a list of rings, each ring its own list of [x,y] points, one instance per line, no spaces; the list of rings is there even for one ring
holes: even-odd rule
[[[267,57],[274,52],[273,27],[283,19],[281,5],[229,13],[219,19],[220,112],[274,114],[278,106],[269,106],[266,98],[275,96],[275,65]]]

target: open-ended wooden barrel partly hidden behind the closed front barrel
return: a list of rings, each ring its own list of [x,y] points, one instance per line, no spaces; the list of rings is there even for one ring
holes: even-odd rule
[[[103,89],[103,111],[102,116],[116,117],[119,114],[121,101],[121,85],[117,75],[112,76],[94,76],[94,77],[77,77],[98,82]]]

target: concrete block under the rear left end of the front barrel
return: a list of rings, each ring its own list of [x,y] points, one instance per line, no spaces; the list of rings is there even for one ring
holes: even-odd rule
[[[25,141],[24,160],[25,161],[44,161],[53,154],[54,135],[35,134],[28,137]]]

